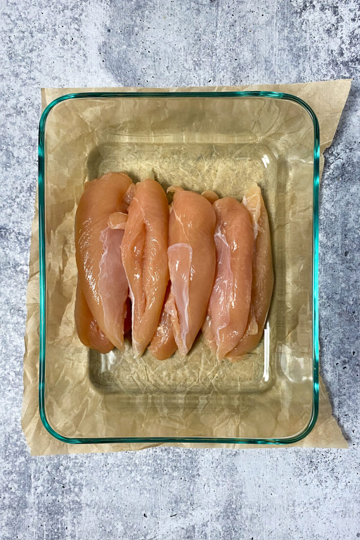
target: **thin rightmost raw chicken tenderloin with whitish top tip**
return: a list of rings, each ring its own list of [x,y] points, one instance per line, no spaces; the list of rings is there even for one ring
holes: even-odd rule
[[[246,191],[242,204],[247,207],[254,227],[252,300],[245,333],[227,354],[232,360],[252,351],[261,340],[274,286],[269,220],[260,187],[252,185]]]

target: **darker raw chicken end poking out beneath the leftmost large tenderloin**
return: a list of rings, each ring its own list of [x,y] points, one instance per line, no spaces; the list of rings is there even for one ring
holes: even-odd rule
[[[85,347],[98,350],[102,354],[110,353],[114,348],[93,318],[79,282],[76,287],[75,324],[79,339]]]

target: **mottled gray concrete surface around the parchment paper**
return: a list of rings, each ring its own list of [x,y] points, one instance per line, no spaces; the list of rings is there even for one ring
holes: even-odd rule
[[[1,0],[0,537],[360,537],[359,3]],[[353,77],[321,188],[321,371],[349,450],[32,458],[20,426],[41,86]]]

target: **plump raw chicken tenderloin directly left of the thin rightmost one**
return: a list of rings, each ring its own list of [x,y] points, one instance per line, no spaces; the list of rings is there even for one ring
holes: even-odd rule
[[[242,338],[252,291],[254,231],[247,209],[232,197],[215,201],[216,271],[202,332],[218,360]]]

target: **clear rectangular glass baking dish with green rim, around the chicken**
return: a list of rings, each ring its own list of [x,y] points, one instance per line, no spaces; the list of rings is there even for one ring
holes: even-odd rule
[[[86,180],[126,171],[241,200],[261,186],[275,285],[264,336],[239,362],[201,337],[185,359],[101,355],[74,328],[73,225]],[[40,370],[45,428],[69,443],[294,443],[318,411],[319,127],[275,92],[74,93],[39,125]]]

